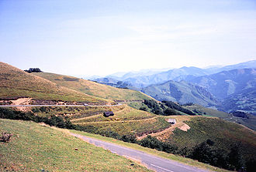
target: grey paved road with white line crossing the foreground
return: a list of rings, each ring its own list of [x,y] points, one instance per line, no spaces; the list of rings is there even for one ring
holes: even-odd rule
[[[115,143],[109,143],[91,137],[81,136],[75,133],[71,133],[71,135],[81,138],[88,143],[92,143],[97,147],[103,147],[104,149],[110,150],[112,153],[119,154],[120,156],[130,157],[132,159],[139,160],[149,169],[155,170],[157,172],[209,172],[209,170],[202,170],[197,167],[178,163],[175,160],[168,160],[162,157],[156,157],[154,155],[144,153],[140,150],[133,150],[131,148],[119,146]]]

